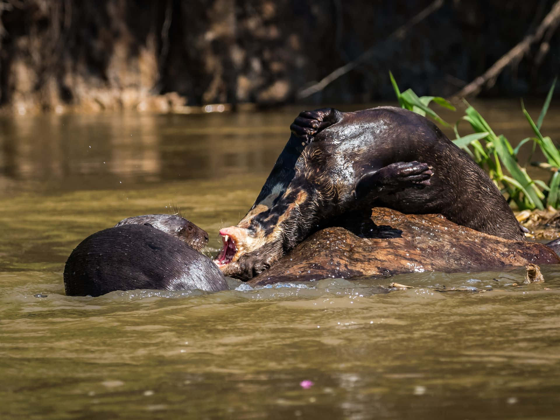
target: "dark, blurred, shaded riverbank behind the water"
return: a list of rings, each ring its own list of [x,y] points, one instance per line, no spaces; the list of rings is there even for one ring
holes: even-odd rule
[[[447,0],[399,37],[390,35],[432,1],[2,0],[0,105],[283,104],[371,48],[306,101],[393,99],[389,69],[418,95],[448,96],[532,34],[554,3]],[[544,95],[559,36],[549,30],[483,95]]]

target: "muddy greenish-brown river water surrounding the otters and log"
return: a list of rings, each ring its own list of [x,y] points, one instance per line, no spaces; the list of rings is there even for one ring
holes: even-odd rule
[[[516,101],[478,108],[530,134]],[[216,250],[297,111],[0,120],[0,418],[560,416],[560,267],[64,295],[73,247],[124,217],[177,205]]]

